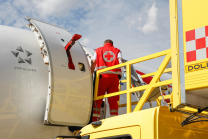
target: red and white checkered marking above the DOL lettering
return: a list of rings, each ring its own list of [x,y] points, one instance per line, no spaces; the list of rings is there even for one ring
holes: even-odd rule
[[[187,62],[208,58],[208,26],[186,32]]]

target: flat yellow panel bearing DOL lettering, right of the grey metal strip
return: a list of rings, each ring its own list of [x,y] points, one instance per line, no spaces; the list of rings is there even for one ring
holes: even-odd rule
[[[185,88],[186,90],[193,90],[199,88],[208,87],[205,82],[208,81],[207,69],[208,69],[208,51],[204,46],[206,46],[206,26],[208,26],[208,0],[182,0],[182,10],[183,10],[183,36],[184,36],[184,60],[185,60]],[[188,39],[186,42],[186,37],[188,31],[193,31],[195,34],[195,39]],[[205,33],[204,35],[202,35]],[[192,33],[193,34],[193,33]],[[190,37],[193,38],[193,37]],[[200,40],[199,39],[204,39]],[[192,41],[193,40],[193,41]],[[192,45],[188,44],[190,42]],[[200,45],[198,45],[199,43]],[[202,43],[205,42],[205,45]],[[196,49],[194,50],[193,47]],[[199,47],[200,46],[200,47]],[[188,51],[188,52],[187,52]],[[198,52],[201,51],[199,54]],[[187,62],[187,57],[190,53],[192,56],[196,54],[196,59]],[[204,53],[204,54],[203,54]],[[206,72],[203,72],[206,71]],[[204,75],[203,75],[203,74]]]

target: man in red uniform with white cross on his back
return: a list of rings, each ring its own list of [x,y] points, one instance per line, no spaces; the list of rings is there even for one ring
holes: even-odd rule
[[[91,72],[94,72],[95,66],[97,70],[117,65],[121,62],[122,55],[118,48],[113,46],[112,40],[106,40],[103,47],[99,47],[95,50],[93,60],[91,62]],[[98,96],[118,92],[119,77],[121,76],[121,69],[113,69],[104,73],[101,73],[98,86]],[[119,96],[108,98],[110,106],[111,116],[118,115],[118,100]],[[93,102],[93,117],[92,121],[100,119],[100,107],[102,99]]]

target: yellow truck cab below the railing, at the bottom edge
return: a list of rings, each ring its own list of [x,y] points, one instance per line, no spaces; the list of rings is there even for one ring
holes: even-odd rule
[[[87,125],[81,129],[81,136],[89,135],[90,139],[207,139],[207,122],[181,126],[188,116],[172,113],[165,106],[155,107],[104,119],[100,126]]]

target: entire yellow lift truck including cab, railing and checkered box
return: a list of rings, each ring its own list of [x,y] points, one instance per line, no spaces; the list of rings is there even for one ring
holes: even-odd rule
[[[126,94],[127,114],[93,122],[76,136],[56,138],[82,139],[207,139],[208,138],[208,1],[170,0],[171,49],[128,61],[97,72],[126,67],[126,90],[97,96],[94,100]],[[165,56],[150,84],[131,86],[131,65]],[[168,63],[172,68],[166,68]],[[172,72],[172,79],[160,81],[163,73]],[[152,91],[172,84],[172,93],[155,98],[157,107],[142,110]],[[144,91],[138,102],[131,101],[133,92]],[[161,100],[170,99],[168,106]],[[132,105],[136,105],[132,110]]]

